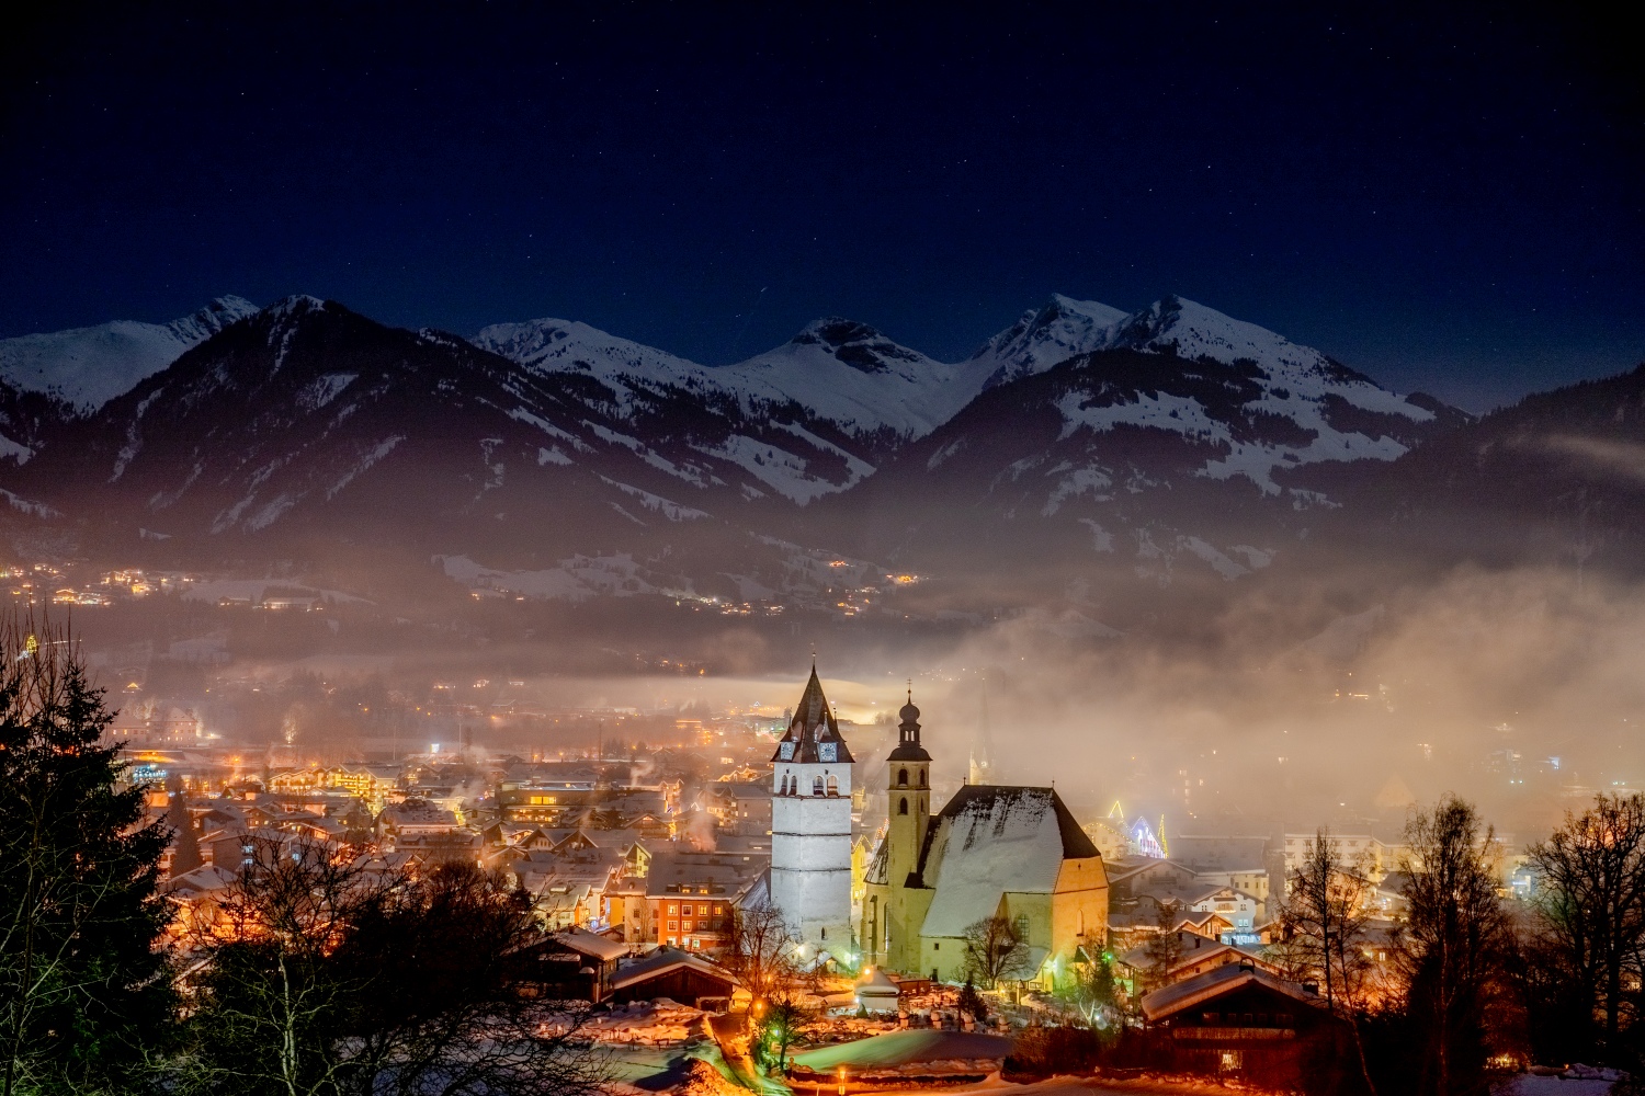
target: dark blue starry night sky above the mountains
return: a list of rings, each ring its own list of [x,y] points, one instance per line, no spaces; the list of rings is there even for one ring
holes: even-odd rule
[[[1625,28],[1128,7],[64,7],[0,58],[0,335],[304,291],[956,358],[1179,292],[1476,409],[1645,360]]]

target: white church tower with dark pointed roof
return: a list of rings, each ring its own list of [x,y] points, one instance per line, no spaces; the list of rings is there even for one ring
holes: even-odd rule
[[[813,665],[772,758],[772,902],[836,955],[850,951],[850,766]]]

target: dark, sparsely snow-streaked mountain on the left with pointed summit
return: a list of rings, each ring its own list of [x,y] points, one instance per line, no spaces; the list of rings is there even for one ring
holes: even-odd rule
[[[689,541],[772,481],[803,496],[872,472],[826,422],[744,421],[689,376],[605,365],[520,366],[290,297],[71,422],[13,481],[168,534],[548,550]]]

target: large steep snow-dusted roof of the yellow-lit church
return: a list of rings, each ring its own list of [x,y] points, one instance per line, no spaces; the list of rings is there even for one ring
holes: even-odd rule
[[[920,877],[936,894],[923,935],[962,937],[1002,894],[1050,894],[1064,859],[1094,856],[1054,789],[969,784],[926,831]]]

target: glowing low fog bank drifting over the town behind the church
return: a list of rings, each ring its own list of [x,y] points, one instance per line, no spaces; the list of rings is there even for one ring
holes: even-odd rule
[[[1132,813],[1165,813],[1175,831],[1393,830],[1411,802],[1454,790],[1500,831],[1530,838],[1592,790],[1645,781],[1637,585],[1462,570],[1334,619],[1306,590],[1253,590],[1230,605],[1194,644],[1071,634],[1056,611],[1017,615],[941,649],[819,629],[818,670],[839,715],[870,725],[895,720],[911,679],[924,743],[952,782],[987,720],[995,781],[1054,782],[1082,815],[1120,800]],[[298,665],[334,682],[452,672],[428,654]],[[808,670],[801,656],[770,675],[533,674],[505,692],[558,708],[689,705],[707,715],[758,705],[780,716]],[[883,748],[883,731],[855,735]]]

